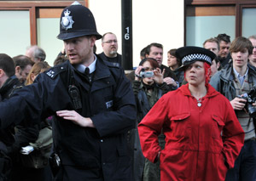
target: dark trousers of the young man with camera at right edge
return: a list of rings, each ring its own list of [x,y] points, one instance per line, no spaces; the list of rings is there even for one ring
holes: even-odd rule
[[[241,152],[235,161],[235,167],[226,175],[226,181],[255,181],[256,180],[256,141],[244,142]]]

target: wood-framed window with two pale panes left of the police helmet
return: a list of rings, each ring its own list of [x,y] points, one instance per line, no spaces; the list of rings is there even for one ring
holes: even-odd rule
[[[88,6],[87,0],[78,2]],[[69,0],[0,1],[1,53],[14,57],[25,54],[28,46],[38,44],[46,53],[46,61],[53,65],[63,48],[63,42],[56,38],[61,11],[72,3]]]

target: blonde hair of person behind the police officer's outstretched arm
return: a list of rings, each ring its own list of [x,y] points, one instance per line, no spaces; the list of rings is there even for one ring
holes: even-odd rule
[[[38,74],[49,70],[51,66],[46,61],[40,61],[32,66],[32,69],[29,71],[28,76],[26,77],[26,85],[32,84],[32,75],[38,76]]]

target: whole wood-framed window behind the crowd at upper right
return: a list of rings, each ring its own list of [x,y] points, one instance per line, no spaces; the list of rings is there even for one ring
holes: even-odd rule
[[[185,45],[202,46],[210,37],[226,33],[249,37],[255,33],[256,2],[242,0],[184,0]]]

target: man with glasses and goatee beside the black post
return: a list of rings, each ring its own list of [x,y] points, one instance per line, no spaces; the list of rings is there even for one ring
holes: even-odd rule
[[[99,54],[99,56],[103,60],[116,63],[119,66],[122,65],[122,55],[117,53],[119,45],[115,34],[112,32],[107,32],[103,35],[102,48],[103,52],[102,54]]]

